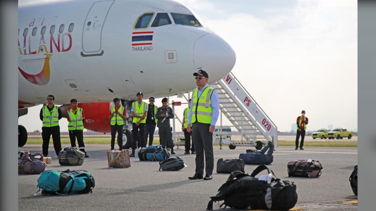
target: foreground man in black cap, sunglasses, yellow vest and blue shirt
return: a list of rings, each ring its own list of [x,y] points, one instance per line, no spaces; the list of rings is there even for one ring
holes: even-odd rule
[[[212,179],[214,168],[213,132],[219,116],[217,91],[208,86],[209,75],[200,69],[193,74],[197,88],[192,92],[192,102],[188,116],[187,131],[192,132],[196,149],[196,172],[188,179]],[[204,173],[204,152],[205,172]]]

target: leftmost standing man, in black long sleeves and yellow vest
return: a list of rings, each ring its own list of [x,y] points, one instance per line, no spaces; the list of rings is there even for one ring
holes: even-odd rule
[[[62,118],[61,109],[59,106],[54,105],[55,96],[47,96],[47,105],[43,106],[39,113],[39,118],[42,121],[42,152],[43,156],[47,157],[48,148],[50,144],[50,137],[52,135],[53,148],[55,149],[56,156],[59,156],[61,151],[60,142],[60,126],[59,120]]]

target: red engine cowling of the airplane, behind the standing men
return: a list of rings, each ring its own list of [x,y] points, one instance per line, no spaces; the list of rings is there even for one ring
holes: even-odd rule
[[[82,108],[85,114],[83,127],[102,133],[110,133],[111,126],[108,117],[110,116],[110,107],[112,102],[87,102],[78,103],[77,107]],[[67,118],[67,111],[71,109],[70,104],[62,105],[60,107],[62,116]]]

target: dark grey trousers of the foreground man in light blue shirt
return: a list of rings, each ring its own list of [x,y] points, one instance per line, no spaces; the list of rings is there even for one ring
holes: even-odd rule
[[[212,174],[214,168],[213,134],[209,132],[210,124],[200,122],[193,123],[192,140],[196,149],[196,173],[204,173],[204,152],[205,172]]]

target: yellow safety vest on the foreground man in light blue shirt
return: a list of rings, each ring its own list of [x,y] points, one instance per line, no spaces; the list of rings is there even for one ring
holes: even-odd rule
[[[210,96],[214,89],[211,87],[206,87],[200,96],[198,97],[199,88],[193,90],[193,107],[192,107],[192,123],[200,122],[205,124],[210,124],[213,116],[213,108],[211,107]],[[196,119],[197,118],[197,119]]]

